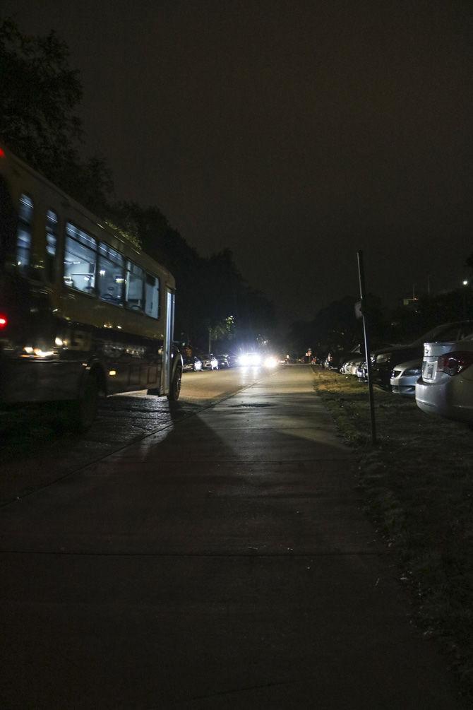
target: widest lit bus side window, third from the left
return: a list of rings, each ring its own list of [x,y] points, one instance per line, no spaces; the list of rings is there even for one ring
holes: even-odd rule
[[[66,224],[64,249],[64,283],[84,293],[95,293],[95,261],[97,243],[93,236]]]

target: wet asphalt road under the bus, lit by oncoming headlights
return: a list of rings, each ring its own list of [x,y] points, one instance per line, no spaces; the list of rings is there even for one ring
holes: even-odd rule
[[[184,373],[177,403],[148,396],[145,390],[114,395],[101,400],[96,423],[84,435],[62,430],[54,408],[33,406],[1,412],[0,505],[53,484],[152,432],[165,430],[263,376],[267,371],[262,368]]]

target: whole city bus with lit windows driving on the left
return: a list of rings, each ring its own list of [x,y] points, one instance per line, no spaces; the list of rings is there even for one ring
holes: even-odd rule
[[[177,400],[172,274],[0,146],[0,403],[64,402],[79,428],[100,395]]]

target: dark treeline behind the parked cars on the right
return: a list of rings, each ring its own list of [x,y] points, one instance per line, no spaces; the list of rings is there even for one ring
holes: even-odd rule
[[[472,270],[473,254],[467,258]],[[295,322],[289,332],[289,349],[300,356],[309,347],[313,354],[346,351],[362,343],[362,321],[355,316],[359,297],[345,296],[320,310],[308,322]],[[381,300],[367,297],[367,320],[372,348],[387,344],[408,343],[436,326],[473,318],[473,292],[470,284],[448,293],[420,295],[408,305],[394,310],[382,307]]]

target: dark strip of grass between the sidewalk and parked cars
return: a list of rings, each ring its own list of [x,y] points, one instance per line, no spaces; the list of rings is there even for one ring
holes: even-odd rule
[[[315,389],[360,459],[367,513],[396,553],[417,623],[450,652],[473,699],[473,432],[426,415],[415,400],[315,371]]]

